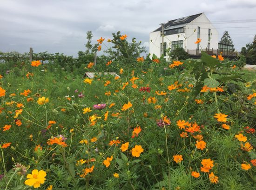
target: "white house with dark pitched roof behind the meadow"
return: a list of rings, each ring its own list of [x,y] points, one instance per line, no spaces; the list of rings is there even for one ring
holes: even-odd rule
[[[179,19],[168,21],[163,25],[163,48],[164,53],[175,47],[183,47],[191,55],[201,53],[201,49],[217,53],[219,34],[204,13],[199,13]],[[149,53],[161,56],[162,26],[149,35]],[[197,38],[202,41],[195,44]]]

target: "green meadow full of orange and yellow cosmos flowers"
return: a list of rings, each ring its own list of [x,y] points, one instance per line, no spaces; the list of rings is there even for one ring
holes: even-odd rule
[[[1,190],[256,187],[255,71],[205,52],[141,57],[126,34],[96,43],[102,70],[0,63]]]

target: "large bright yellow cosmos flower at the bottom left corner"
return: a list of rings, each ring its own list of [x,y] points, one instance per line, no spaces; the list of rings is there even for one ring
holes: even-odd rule
[[[40,187],[41,184],[44,184],[46,180],[46,172],[43,170],[33,170],[32,174],[27,174],[27,180],[25,181],[26,185],[33,186],[34,188]]]

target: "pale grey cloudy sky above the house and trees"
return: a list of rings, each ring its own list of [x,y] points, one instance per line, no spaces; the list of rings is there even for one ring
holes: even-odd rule
[[[86,32],[135,37],[148,48],[160,23],[204,12],[220,36],[228,30],[236,50],[256,34],[256,0],[0,0],[0,51],[85,51]],[[103,47],[103,49],[106,47]]]

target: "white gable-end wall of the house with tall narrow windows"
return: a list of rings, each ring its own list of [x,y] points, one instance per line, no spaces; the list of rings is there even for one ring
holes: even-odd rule
[[[200,49],[206,49],[208,45],[208,29],[211,29],[211,36],[210,36],[210,50],[218,49],[218,39],[219,33],[216,28],[211,24],[209,19],[205,16],[205,14],[200,15],[195,20],[190,22],[185,26],[185,36],[187,37],[184,43],[184,49],[187,51],[188,49],[191,51],[192,54],[193,50],[196,50],[197,44],[195,41],[197,40],[197,27],[200,27]],[[194,32],[195,30],[195,32]]]

